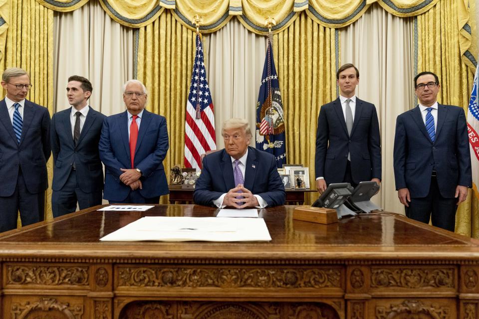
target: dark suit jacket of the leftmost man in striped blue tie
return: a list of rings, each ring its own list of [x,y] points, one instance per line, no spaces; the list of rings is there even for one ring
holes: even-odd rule
[[[50,114],[48,110],[25,100],[20,144],[17,143],[5,100],[0,101],[0,196],[15,191],[18,167],[26,188],[36,194],[48,188],[46,161],[50,158]]]

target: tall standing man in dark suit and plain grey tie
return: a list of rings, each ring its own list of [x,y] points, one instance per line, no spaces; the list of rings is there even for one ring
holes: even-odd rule
[[[381,182],[381,138],[373,104],[355,96],[359,71],[344,64],[336,73],[339,97],[319,111],[315,174],[319,192],[327,184]]]

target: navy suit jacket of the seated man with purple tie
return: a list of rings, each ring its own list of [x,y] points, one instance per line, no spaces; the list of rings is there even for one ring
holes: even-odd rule
[[[203,169],[196,181],[195,204],[213,206],[213,200],[235,188],[231,156],[225,149],[203,159]],[[244,187],[259,195],[268,206],[283,205],[286,199],[283,182],[276,168],[276,160],[269,153],[248,147]]]

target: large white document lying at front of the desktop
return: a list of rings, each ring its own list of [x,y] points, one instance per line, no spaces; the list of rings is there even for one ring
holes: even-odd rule
[[[270,241],[262,218],[156,217],[140,218],[101,241]]]

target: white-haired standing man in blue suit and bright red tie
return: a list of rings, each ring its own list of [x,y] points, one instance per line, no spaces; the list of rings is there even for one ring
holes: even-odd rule
[[[145,110],[148,92],[138,80],[123,86],[127,110],[109,116],[100,136],[105,164],[103,198],[110,203],[158,204],[168,194],[163,160],[168,151],[166,119]]]

